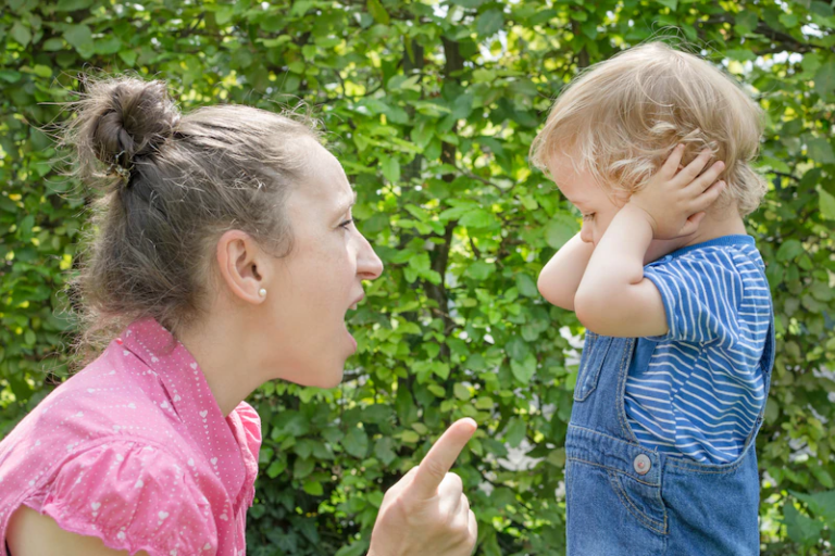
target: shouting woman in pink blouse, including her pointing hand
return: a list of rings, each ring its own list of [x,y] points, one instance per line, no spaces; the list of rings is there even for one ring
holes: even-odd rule
[[[356,195],[308,125],[180,117],[161,81],[91,83],[66,137],[107,192],[77,283],[85,338],[121,333],[0,443],[0,556],[242,555],[261,444],[244,400],[273,379],[338,384],[345,314],[383,270]],[[470,554],[447,471],[474,429],[454,424],[386,493],[370,554]]]

